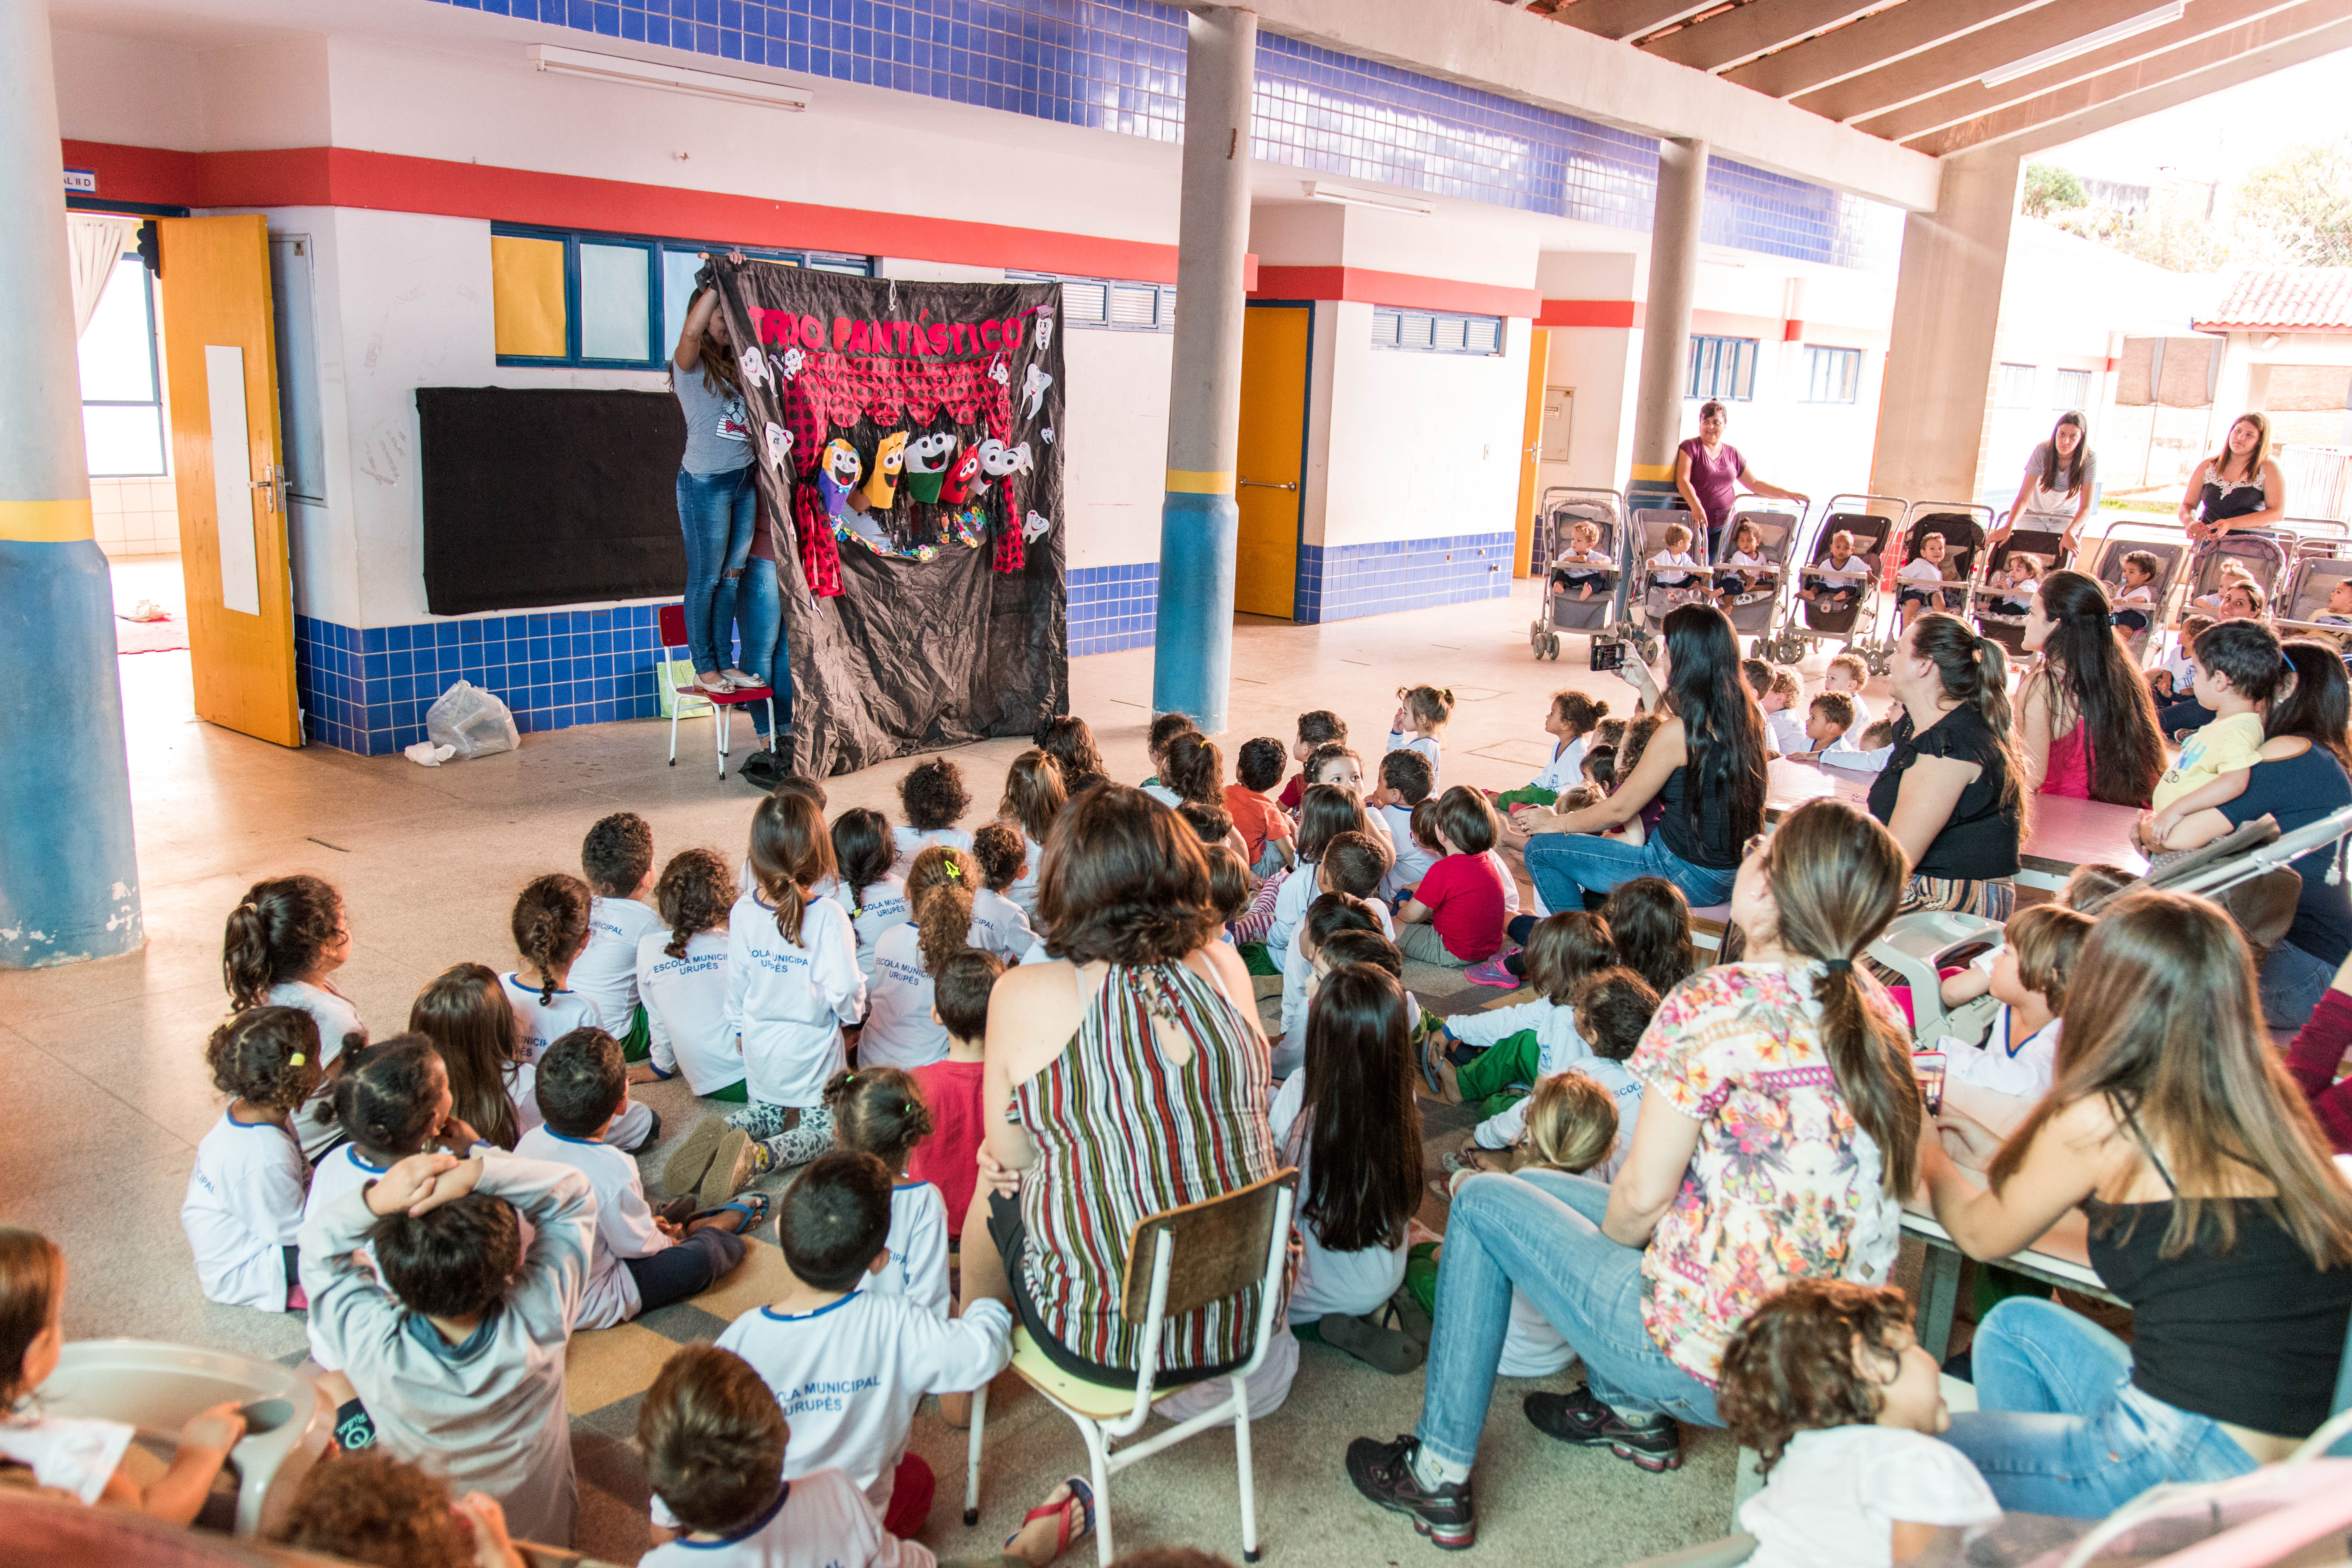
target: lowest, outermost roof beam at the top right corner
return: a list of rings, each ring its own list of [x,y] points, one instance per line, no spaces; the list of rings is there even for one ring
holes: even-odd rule
[[[2291,12],[2232,28],[2223,38],[2166,49],[2042,94],[2030,103],[2011,103],[1980,120],[1933,132],[1910,146],[1947,155],[2016,143],[2020,155],[2032,155],[2286,66],[2300,66],[2321,54],[2352,49],[2352,16],[2347,12],[2352,12],[2352,0],[2310,0]]]

